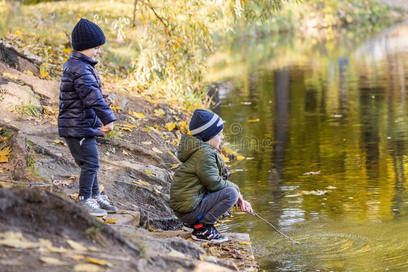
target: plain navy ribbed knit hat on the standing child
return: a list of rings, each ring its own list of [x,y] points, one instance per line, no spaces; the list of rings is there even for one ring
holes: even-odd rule
[[[72,47],[75,51],[103,45],[106,42],[104,32],[96,23],[82,18],[72,30]]]

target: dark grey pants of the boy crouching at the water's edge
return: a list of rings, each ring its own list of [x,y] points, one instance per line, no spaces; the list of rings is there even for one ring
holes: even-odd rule
[[[238,191],[233,187],[207,194],[195,210],[175,215],[185,224],[215,224],[219,217],[238,201]]]

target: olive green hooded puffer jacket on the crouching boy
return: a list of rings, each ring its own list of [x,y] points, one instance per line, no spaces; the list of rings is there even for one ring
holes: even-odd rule
[[[175,171],[170,186],[170,207],[177,212],[190,212],[209,193],[238,186],[222,179],[224,160],[200,139],[183,134],[177,157],[182,165]]]

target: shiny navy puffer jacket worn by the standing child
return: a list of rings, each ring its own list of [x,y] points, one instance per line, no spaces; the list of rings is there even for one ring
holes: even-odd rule
[[[72,51],[64,64],[60,86],[58,132],[61,137],[103,137],[102,124],[116,121],[102,94],[100,78],[92,61]]]

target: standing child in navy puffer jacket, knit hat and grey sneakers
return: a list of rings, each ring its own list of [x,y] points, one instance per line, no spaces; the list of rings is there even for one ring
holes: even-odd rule
[[[104,216],[117,211],[107,196],[100,195],[97,179],[99,155],[95,137],[104,137],[116,121],[94,69],[106,39],[97,24],[84,18],[73,28],[71,38],[73,51],[64,64],[60,86],[58,132],[81,167],[77,202],[90,214]]]

